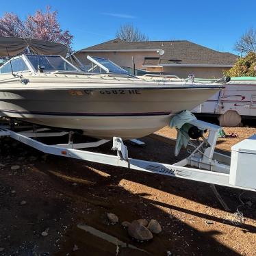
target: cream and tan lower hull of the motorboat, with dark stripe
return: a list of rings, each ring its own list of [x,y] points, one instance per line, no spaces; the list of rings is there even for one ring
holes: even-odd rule
[[[141,138],[192,110],[219,88],[4,90],[0,115],[29,123],[79,129],[87,136]]]

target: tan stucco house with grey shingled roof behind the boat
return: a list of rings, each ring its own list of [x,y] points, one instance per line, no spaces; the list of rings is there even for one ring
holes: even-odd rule
[[[104,57],[119,66],[149,72],[188,77],[222,77],[231,68],[237,55],[203,47],[187,40],[127,42],[116,38],[81,49],[75,55],[87,63],[87,55]]]

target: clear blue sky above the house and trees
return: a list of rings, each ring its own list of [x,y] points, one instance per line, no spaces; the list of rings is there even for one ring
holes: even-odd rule
[[[233,52],[233,44],[256,28],[256,1],[1,1],[0,15],[25,18],[51,5],[63,29],[74,36],[73,49],[115,38],[116,29],[132,23],[151,40],[190,40],[217,51]]]

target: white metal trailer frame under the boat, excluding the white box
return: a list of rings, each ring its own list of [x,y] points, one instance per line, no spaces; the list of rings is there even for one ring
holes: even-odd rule
[[[151,162],[130,158],[128,156],[127,146],[125,146],[122,138],[118,137],[113,138],[112,144],[112,150],[116,151],[116,155],[108,155],[83,150],[86,148],[100,146],[101,144],[105,144],[110,140],[74,143],[73,131],[56,132],[47,128],[27,131],[12,131],[6,126],[1,126],[0,137],[9,136],[18,142],[22,142],[28,146],[33,147],[34,149],[38,149],[39,151],[51,155],[71,157],[89,162],[97,162],[99,164],[119,166],[132,170],[151,172],[159,175],[166,175],[181,179],[190,179],[193,181],[211,183],[214,185],[224,185],[231,188],[255,191],[254,188],[244,188],[230,183],[231,157],[216,153],[214,151],[220,127],[203,122],[201,120],[192,120],[190,123],[196,127],[200,127],[201,129],[207,129],[209,131],[209,135],[204,140],[199,140],[198,146],[196,146],[194,142],[190,142],[190,146],[194,147],[194,151],[192,151],[188,157],[185,157],[175,164],[164,164],[160,162]],[[66,134],[69,134],[68,143],[66,144],[49,145],[37,140],[37,138],[41,137],[64,136]],[[140,144],[140,142],[138,144]]]

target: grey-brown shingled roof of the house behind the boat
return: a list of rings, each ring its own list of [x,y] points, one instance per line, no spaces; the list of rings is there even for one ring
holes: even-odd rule
[[[127,42],[116,38],[101,44],[82,49],[81,51],[159,51],[164,55],[159,60],[152,58],[144,61],[144,65],[159,66],[233,66],[237,55],[215,51],[187,40]]]

